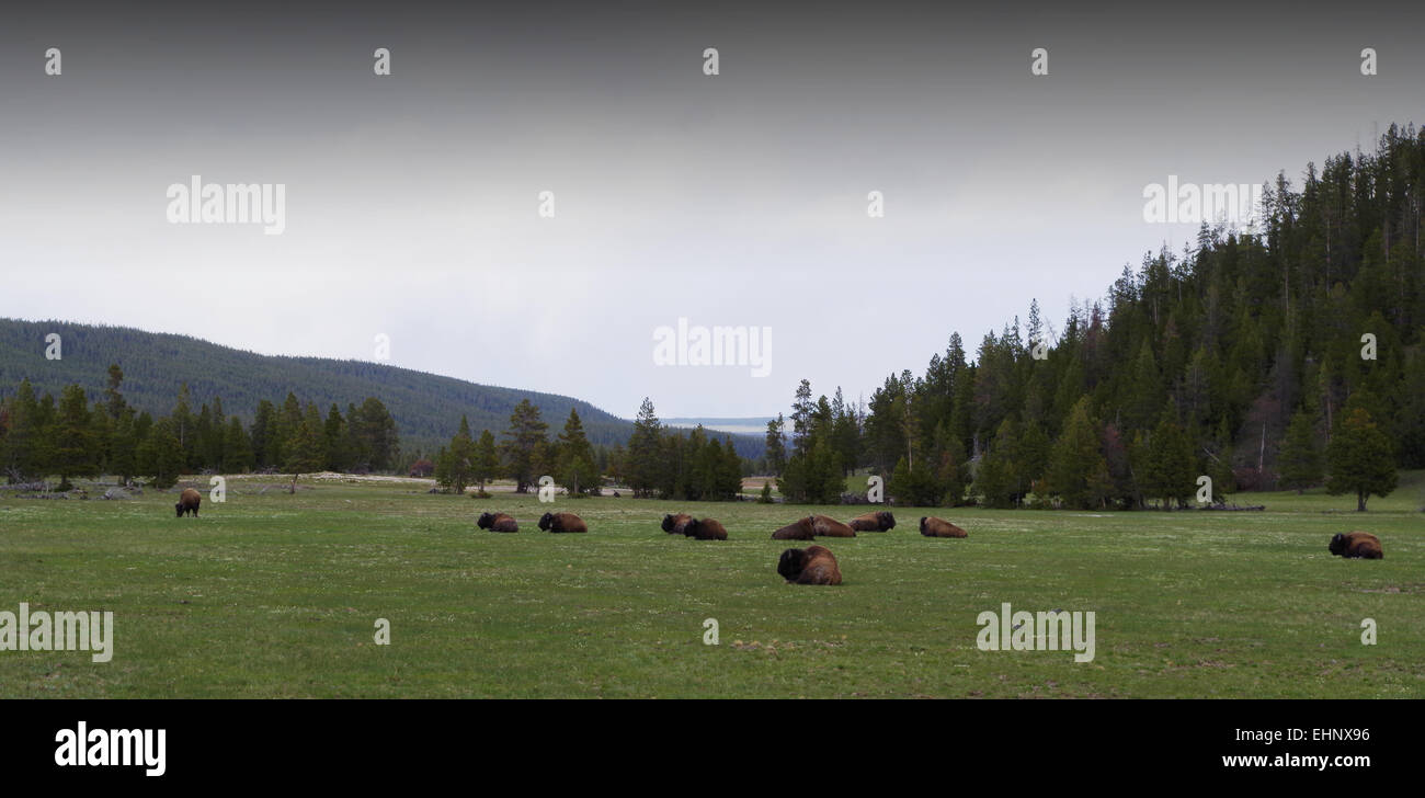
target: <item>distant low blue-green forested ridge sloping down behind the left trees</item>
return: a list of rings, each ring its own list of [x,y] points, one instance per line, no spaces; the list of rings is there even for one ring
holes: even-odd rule
[[[58,333],[63,359],[44,358],[46,335]],[[446,445],[460,425],[470,420],[477,433],[496,436],[510,425],[520,399],[539,406],[544,422],[557,432],[570,408],[579,409],[590,443],[626,443],[633,422],[613,416],[589,402],[476,385],[460,379],[361,361],[288,358],[258,355],[219,346],[184,335],[144,332],[133,328],[95,326],[68,322],[0,319],[0,396],[14,393],[28,378],[36,392],[56,396],[70,383],[83,385],[90,400],[100,399],[110,363],[124,369],[124,396],[140,410],[165,415],[174,408],[180,386],[188,383],[195,403],[222,399],[224,409],[247,420],[258,402],[281,402],[288,392],[302,402],[315,402],[322,412],[333,402],[339,408],[361,405],[375,396],[396,419],[400,447],[430,453]],[[553,432],[551,432],[553,435]],[[761,455],[760,436],[740,436],[742,456]]]

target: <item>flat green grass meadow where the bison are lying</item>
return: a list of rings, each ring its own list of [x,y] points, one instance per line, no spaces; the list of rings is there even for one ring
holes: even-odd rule
[[[268,480],[271,482],[271,479]],[[862,480],[864,482],[864,480]],[[436,496],[410,484],[229,482],[0,499],[0,610],[114,611],[114,656],[0,651],[3,697],[1391,697],[1425,695],[1422,475],[1265,513],[932,510],[969,530],[824,542],[839,587],[782,584],[772,529],[811,507]],[[546,534],[567,509],[589,534]],[[477,530],[482,509],[517,534]],[[728,542],[664,534],[681,509]],[[851,507],[824,507],[838,517]],[[1330,556],[1378,534],[1381,561]],[[797,546],[804,546],[798,543]],[[1092,610],[1096,657],[980,651],[976,616]],[[1362,618],[1378,644],[1361,643]],[[375,646],[376,618],[390,646]],[[704,618],[721,641],[703,643]]]

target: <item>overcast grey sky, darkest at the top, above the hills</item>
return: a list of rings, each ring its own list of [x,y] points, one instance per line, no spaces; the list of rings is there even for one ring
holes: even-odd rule
[[[395,365],[621,416],[869,398],[1181,249],[1147,184],[1300,184],[1425,123],[1419,4],[192,6],[7,10],[0,316],[358,359],[386,335]],[[192,175],[285,185],[285,231],[170,224]],[[656,366],[680,316],[771,328],[770,375]]]

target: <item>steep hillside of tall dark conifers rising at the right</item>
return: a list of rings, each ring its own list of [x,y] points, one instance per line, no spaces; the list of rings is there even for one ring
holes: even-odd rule
[[[825,497],[871,466],[913,503],[1131,507],[1181,502],[1198,475],[1214,494],[1384,494],[1395,466],[1425,467],[1422,227],[1425,131],[1391,125],[1280,174],[1254,231],[1204,225],[1057,329],[1030,305],[978,348],[953,333],[864,419],[804,382],[784,492]]]

